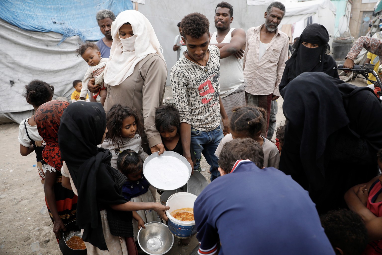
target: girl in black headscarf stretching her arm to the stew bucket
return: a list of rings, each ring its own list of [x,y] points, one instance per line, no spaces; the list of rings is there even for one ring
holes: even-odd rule
[[[169,208],[160,203],[134,203],[123,197],[121,186],[127,178],[110,166],[109,150],[97,147],[106,133],[101,104],[74,103],[62,115],[58,141],[78,191],[76,225],[83,229],[88,254],[125,255],[126,242],[119,237],[133,236],[132,211],[151,209],[167,220],[165,210]]]

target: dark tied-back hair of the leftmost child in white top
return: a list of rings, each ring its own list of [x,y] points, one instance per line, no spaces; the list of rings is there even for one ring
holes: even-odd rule
[[[32,106],[40,106],[52,100],[54,87],[45,81],[33,80],[28,85],[25,85],[23,96],[28,104]]]

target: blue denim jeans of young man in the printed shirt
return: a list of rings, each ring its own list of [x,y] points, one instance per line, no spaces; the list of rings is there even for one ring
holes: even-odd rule
[[[220,173],[217,170],[219,164],[217,162],[218,159],[215,156],[215,151],[223,137],[223,130],[220,125],[209,132],[203,132],[191,127],[191,146],[194,149],[196,159],[194,170],[199,168],[201,154],[203,153],[207,163],[211,166],[211,181],[220,176]]]

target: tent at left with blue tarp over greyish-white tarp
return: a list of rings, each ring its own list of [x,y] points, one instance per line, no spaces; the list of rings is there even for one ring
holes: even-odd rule
[[[0,1],[0,123],[21,122],[33,107],[23,97],[25,85],[38,79],[55,88],[53,98],[70,99],[73,80],[82,80],[86,62],[75,50],[81,39],[103,37],[95,15],[115,15],[132,8],[130,1]]]

